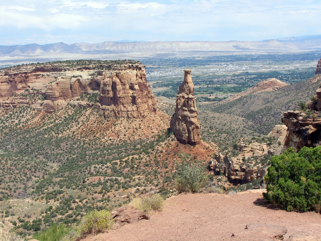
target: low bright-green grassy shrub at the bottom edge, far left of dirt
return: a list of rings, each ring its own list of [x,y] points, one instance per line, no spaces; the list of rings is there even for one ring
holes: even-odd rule
[[[34,238],[39,241],[58,241],[68,234],[70,229],[71,228],[66,227],[64,224],[60,224],[59,226],[54,224],[46,230],[34,235]]]

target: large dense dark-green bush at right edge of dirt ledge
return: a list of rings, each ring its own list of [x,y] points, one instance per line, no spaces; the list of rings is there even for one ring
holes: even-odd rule
[[[291,147],[271,158],[265,180],[266,200],[287,211],[319,211],[321,204],[321,146],[303,147],[298,153]]]

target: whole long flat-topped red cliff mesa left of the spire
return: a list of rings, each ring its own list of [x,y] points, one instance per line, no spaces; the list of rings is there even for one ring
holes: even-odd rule
[[[156,111],[156,99],[142,64],[70,63],[22,65],[0,71],[1,107],[33,105],[38,110],[53,112],[69,103],[100,108],[105,116],[129,118],[144,118]],[[100,97],[92,101],[75,99],[85,94]]]

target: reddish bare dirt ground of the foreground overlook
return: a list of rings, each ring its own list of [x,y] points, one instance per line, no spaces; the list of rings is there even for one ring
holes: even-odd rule
[[[232,195],[180,194],[167,199],[164,210],[154,212],[149,220],[125,224],[83,241],[273,240],[284,229],[284,240],[298,231],[321,237],[321,215],[273,207],[263,200],[262,190]]]

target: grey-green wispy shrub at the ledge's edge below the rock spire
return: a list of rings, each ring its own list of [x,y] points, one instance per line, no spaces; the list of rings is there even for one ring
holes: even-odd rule
[[[205,166],[198,161],[193,161],[189,154],[180,154],[181,163],[176,163],[176,190],[181,192],[199,192],[208,180],[204,173]]]

